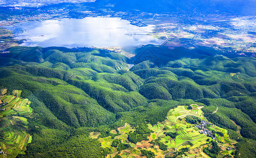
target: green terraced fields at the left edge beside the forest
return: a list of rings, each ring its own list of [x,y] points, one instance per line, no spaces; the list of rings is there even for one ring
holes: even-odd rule
[[[3,92],[6,90],[1,92],[0,146],[6,157],[16,157],[25,154],[27,144],[32,141],[32,136],[26,133],[27,118],[21,117],[31,115],[31,102],[19,97],[22,91],[14,90],[13,95],[4,95]]]

